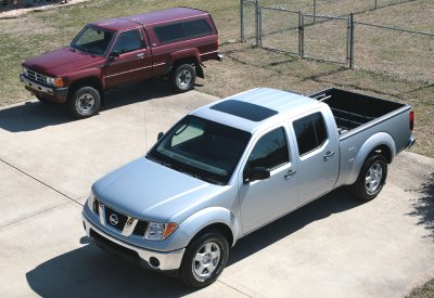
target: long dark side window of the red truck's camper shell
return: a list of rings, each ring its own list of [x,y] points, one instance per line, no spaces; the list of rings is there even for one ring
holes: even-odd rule
[[[204,18],[199,18],[194,21],[158,26],[154,28],[154,31],[159,42],[165,43],[174,40],[209,35],[212,29]]]

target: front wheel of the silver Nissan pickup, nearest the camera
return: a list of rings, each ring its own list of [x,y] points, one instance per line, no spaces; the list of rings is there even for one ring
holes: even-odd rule
[[[200,255],[203,255],[201,261],[197,260],[201,258]],[[228,257],[228,239],[218,231],[206,232],[187,247],[179,276],[190,287],[207,286],[221,274]]]

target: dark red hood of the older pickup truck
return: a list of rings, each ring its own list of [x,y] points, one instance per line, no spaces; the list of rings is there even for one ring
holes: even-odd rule
[[[105,57],[64,48],[30,59],[23,66],[48,76],[62,76],[92,64],[103,64]]]

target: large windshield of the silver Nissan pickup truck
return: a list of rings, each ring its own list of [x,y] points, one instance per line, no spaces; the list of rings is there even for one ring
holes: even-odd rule
[[[190,115],[146,157],[199,179],[227,184],[250,139],[246,131]]]

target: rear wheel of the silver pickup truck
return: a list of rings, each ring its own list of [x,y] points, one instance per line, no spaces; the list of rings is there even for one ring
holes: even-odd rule
[[[380,194],[386,177],[387,160],[383,155],[371,155],[365,160],[359,177],[353,184],[353,191],[357,198],[363,202],[371,200]]]

